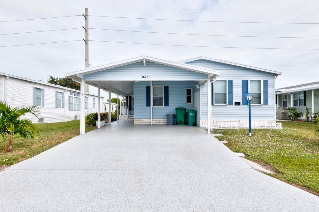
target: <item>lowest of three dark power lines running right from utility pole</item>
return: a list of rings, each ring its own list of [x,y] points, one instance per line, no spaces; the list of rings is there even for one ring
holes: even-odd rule
[[[319,50],[319,48],[256,48],[256,47],[221,47],[221,46],[192,46],[192,45],[177,45],[177,44],[158,44],[158,43],[133,43],[133,42],[117,42],[105,40],[89,40],[95,42],[108,42],[108,43],[128,43],[128,44],[143,44],[143,45],[158,45],[158,46],[184,46],[184,47],[209,47],[209,48],[249,48],[249,49],[298,49],[298,50]]]

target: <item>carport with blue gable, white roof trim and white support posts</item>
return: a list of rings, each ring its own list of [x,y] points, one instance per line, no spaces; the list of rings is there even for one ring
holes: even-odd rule
[[[66,77],[81,83],[81,118],[80,118],[80,134],[85,133],[85,116],[84,116],[84,84],[89,84],[99,89],[109,92],[109,99],[111,99],[111,92],[123,97],[123,99],[131,95],[135,95],[135,83],[147,82],[146,86],[150,87],[151,98],[150,107],[143,109],[149,111],[150,124],[153,124],[153,110],[158,110],[153,106],[153,85],[155,82],[196,82],[197,84],[207,83],[207,114],[208,120],[211,120],[211,82],[220,75],[219,71],[189,65],[180,62],[172,62],[151,56],[140,56],[114,62],[107,65],[87,68],[79,71],[74,71],[65,74]],[[164,86],[163,86],[164,87]],[[144,90],[143,90],[144,92]],[[161,94],[164,102],[164,89]],[[134,98],[135,101],[136,98]],[[174,99],[173,99],[174,100]],[[100,101],[100,99],[99,99]],[[172,101],[170,101],[171,103]],[[138,101],[137,103],[141,103]],[[142,102],[144,104],[145,102]],[[99,102],[100,105],[100,102]],[[109,101],[110,105],[110,101]],[[146,104],[147,106],[147,104]],[[163,103],[164,106],[164,103]],[[138,108],[134,104],[134,108]],[[109,106],[109,109],[111,107]],[[153,109],[154,108],[154,109]],[[124,104],[122,111],[124,111]],[[135,113],[134,113],[135,116]],[[111,120],[111,113],[109,112],[109,120]],[[210,133],[210,121],[208,121],[208,133]]]

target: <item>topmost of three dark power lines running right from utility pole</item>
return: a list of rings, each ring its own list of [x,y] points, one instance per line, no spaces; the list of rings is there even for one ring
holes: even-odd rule
[[[133,17],[120,17],[120,16],[98,16],[89,15],[92,17],[105,17],[105,18],[128,18],[128,19],[143,19],[143,20],[163,20],[163,21],[193,21],[193,22],[219,22],[219,23],[251,23],[251,24],[319,24],[319,23],[299,23],[299,22],[251,22],[251,21],[207,21],[207,20],[182,20],[182,19],[164,19],[164,18],[133,18]]]

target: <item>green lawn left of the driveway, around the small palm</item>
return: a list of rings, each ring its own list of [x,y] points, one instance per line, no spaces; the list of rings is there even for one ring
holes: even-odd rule
[[[80,121],[67,121],[57,123],[37,124],[41,130],[41,135],[35,139],[23,139],[16,135],[13,137],[12,152],[4,151],[4,141],[1,138],[0,146],[0,170],[7,166],[19,163],[25,159],[40,154],[70,138],[80,134]],[[95,126],[85,126],[85,132],[96,129]],[[9,142],[7,142],[9,145]],[[8,146],[9,148],[9,146]]]

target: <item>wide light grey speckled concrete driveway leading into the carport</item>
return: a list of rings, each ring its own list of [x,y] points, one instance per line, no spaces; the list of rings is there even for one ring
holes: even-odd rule
[[[318,211],[198,127],[112,123],[0,172],[1,211]]]

